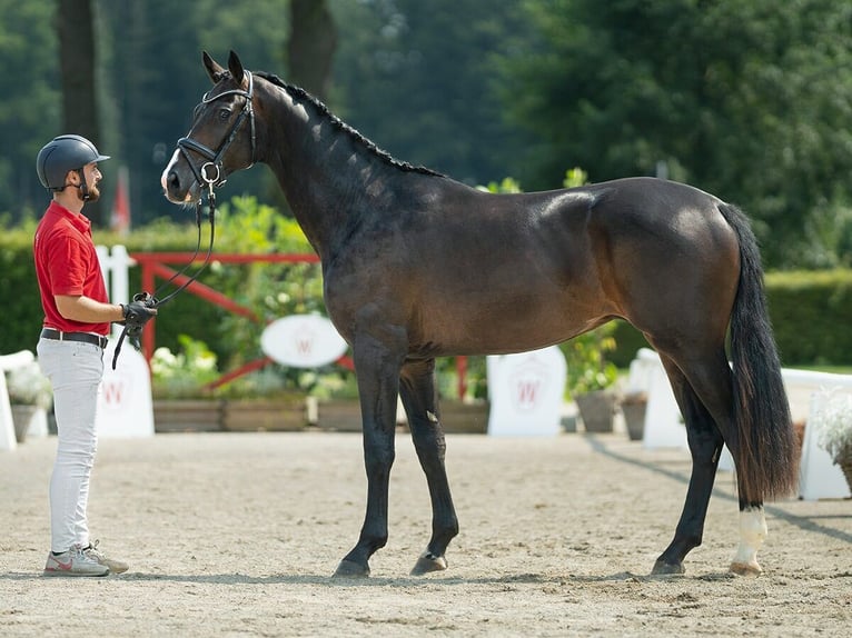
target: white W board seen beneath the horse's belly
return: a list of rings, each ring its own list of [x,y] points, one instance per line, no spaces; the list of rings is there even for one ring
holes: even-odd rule
[[[557,346],[486,358],[492,436],[555,436],[567,367]]]

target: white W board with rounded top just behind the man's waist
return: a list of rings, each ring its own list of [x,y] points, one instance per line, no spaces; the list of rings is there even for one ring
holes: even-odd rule
[[[125,340],[112,369],[118,339],[110,338],[103,351],[103,380],[98,393],[96,428],[99,438],[153,436],[153,403],[148,362]]]

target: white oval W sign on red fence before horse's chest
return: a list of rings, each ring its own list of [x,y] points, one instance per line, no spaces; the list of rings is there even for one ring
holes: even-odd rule
[[[325,317],[291,315],[266,327],[260,336],[260,348],[283,366],[319,368],[343,357],[348,345]]]

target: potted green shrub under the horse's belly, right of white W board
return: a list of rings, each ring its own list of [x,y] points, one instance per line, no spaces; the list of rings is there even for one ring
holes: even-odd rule
[[[615,350],[615,328],[611,321],[562,346],[568,367],[567,391],[587,432],[613,431],[618,370],[605,353]]]

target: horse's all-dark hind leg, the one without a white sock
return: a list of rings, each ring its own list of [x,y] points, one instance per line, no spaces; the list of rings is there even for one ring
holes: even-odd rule
[[[671,358],[661,353],[661,359],[686,422],[686,438],[692,456],[692,476],[674,539],[657,558],[653,574],[683,574],[683,559],[690,550],[702,542],[704,521],[716,477],[719,457],[722,452],[723,438],[714,418],[685,375]],[[712,365],[694,365],[690,371],[693,379],[702,387],[726,388],[726,392],[723,391],[721,396],[715,397],[716,401],[724,401],[725,393],[730,397],[730,379],[727,377],[730,370],[724,352],[719,359]]]

